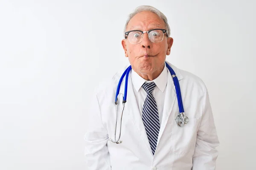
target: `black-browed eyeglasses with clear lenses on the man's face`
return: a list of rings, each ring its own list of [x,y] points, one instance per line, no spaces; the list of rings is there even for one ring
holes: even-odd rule
[[[149,31],[131,30],[125,32],[125,39],[128,37],[131,44],[139,44],[142,42],[144,33],[148,33],[148,38],[151,42],[161,42],[163,41],[164,33],[167,34],[167,31],[166,29],[151,29]]]

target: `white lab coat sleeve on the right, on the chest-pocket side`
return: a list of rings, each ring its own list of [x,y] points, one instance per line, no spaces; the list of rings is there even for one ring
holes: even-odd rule
[[[209,102],[207,88],[203,96],[203,115],[198,128],[192,170],[215,170],[218,157],[218,136]]]

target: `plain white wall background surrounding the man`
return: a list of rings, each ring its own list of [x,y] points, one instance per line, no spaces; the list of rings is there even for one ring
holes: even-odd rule
[[[140,5],[169,20],[167,60],[207,85],[216,169],[256,169],[255,1],[0,0],[0,170],[87,169],[91,89],[128,63],[123,27]]]

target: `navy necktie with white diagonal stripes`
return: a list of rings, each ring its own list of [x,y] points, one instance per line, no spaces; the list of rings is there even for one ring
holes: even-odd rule
[[[146,91],[147,97],[145,99],[142,111],[142,120],[148,136],[148,141],[154,155],[157,148],[158,133],[160,130],[159,115],[157,111],[157,103],[152,95],[152,91],[156,84],[154,82],[144,83],[142,88]]]

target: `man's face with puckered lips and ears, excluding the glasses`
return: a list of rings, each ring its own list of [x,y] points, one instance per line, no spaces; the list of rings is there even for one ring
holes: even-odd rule
[[[164,21],[157,14],[143,11],[131,18],[126,31],[149,31],[155,28],[166,29]],[[153,74],[163,69],[166,55],[170,54],[172,43],[173,39],[168,38],[166,33],[162,42],[151,42],[148,33],[144,33],[143,40],[139,44],[131,44],[126,38],[122,40],[122,47],[125,51],[125,57],[128,57],[134,71],[139,74]]]

